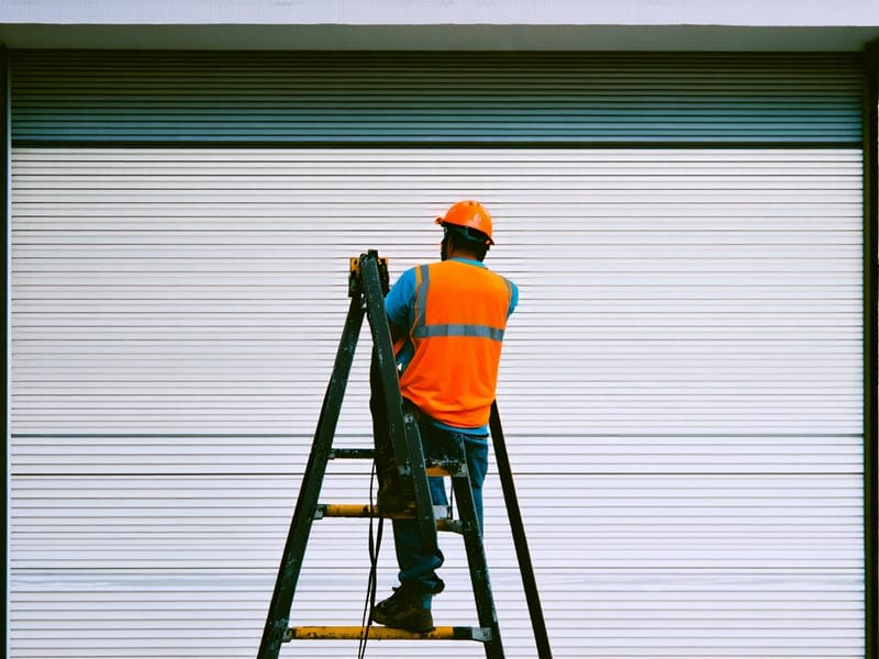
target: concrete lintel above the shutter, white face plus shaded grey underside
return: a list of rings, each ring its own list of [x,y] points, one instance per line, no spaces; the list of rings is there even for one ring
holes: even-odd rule
[[[877,37],[874,0],[0,2],[9,48],[850,52]]]

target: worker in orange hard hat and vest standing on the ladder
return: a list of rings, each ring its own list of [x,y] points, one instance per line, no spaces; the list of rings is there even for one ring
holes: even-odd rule
[[[447,455],[444,447],[450,445],[464,447],[481,533],[489,414],[501,343],[519,289],[482,264],[494,244],[491,215],[482,204],[457,202],[436,223],[443,227],[441,260],[403,272],[388,292],[385,310],[403,404],[419,421],[425,457]],[[374,416],[379,406],[374,405]],[[381,442],[387,428],[380,425],[377,456],[382,449],[387,456],[387,443]],[[379,509],[399,507],[399,491],[385,480],[379,477]],[[430,488],[435,505],[448,504],[441,477],[431,477]],[[393,539],[400,585],[376,604],[372,619],[409,632],[430,632],[432,599],[444,588],[436,574],[443,554],[424,546],[412,518],[393,520]]]

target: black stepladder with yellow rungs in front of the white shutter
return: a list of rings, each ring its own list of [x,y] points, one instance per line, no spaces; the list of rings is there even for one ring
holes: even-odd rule
[[[385,314],[383,298],[388,291],[387,260],[369,250],[351,259],[348,295],[351,304],[342,330],[333,372],[321,407],[314,439],[300,484],[292,521],[283,547],[275,589],[269,603],[257,659],[277,659],[281,646],[294,640],[310,639],[379,639],[379,640],[471,640],[481,643],[488,659],[504,657],[489,567],[474,493],[467,471],[463,445],[452,443],[442,450],[425,455],[420,432],[420,414],[400,393],[398,371],[390,327]],[[375,443],[365,448],[334,446],[344,393],[348,383],[355,348],[364,319],[368,320],[371,338],[370,412]],[[539,603],[538,590],[525,539],[513,478],[507,454],[503,429],[497,403],[491,406],[490,432],[504,504],[515,546],[516,559],[532,622],[539,659],[550,659],[552,652]],[[383,471],[383,483],[392,484],[401,500],[400,509],[388,510],[369,503],[323,503],[320,501],[327,465],[331,460],[372,460]],[[434,505],[430,477],[450,480],[450,491],[457,516],[452,506]],[[382,478],[380,477],[380,481]],[[392,483],[389,483],[392,481]],[[294,596],[305,558],[312,525],[324,517],[408,517],[414,520],[422,544],[437,545],[437,530],[461,536],[470,573],[476,625],[437,625],[426,633],[411,633],[392,627],[366,625],[291,625],[296,619]],[[299,644],[293,644],[299,645]],[[308,656],[299,650],[299,656]]]

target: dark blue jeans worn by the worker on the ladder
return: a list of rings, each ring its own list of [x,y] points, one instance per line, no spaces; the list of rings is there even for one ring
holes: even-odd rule
[[[470,477],[470,489],[474,493],[479,528],[482,529],[482,482],[488,471],[488,437],[485,435],[466,435],[430,423],[420,423],[421,443],[427,458],[442,457],[448,453],[444,447],[464,446],[467,457],[467,471]],[[431,498],[434,505],[448,505],[446,484],[443,477],[430,477]],[[400,568],[400,583],[411,582],[424,593],[433,592],[439,583],[436,570],[443,565],[443,552],[425,549],[419,534],[415,520],[393,520],[393,544],[397,549],[397,565]]]

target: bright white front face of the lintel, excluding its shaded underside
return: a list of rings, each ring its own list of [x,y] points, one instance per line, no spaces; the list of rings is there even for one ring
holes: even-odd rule
[[[35,0],[0,21],[94,24],[876,26],[872,0]]]

